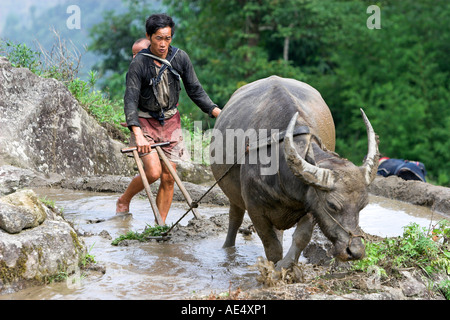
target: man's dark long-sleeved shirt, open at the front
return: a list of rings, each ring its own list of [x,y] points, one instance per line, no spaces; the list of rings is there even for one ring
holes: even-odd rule
[[[172,48],[170,48],[172,50]],[[173,58],[172,67],[180,75],[189,98],[205,113],[211,116],[212,110],[217,107],[203,89],[195,74],[189,56],[183,50]],[[160,112],[161,106],[155,97],[151,80],[157,74],[157,66],[153,59],[138,54],[130,64],[126,77],[126,90],[124,97],[124,111],[127,125],[140,127],[139,110],[144,112]],[[166,109],[175,108],[180,97],[180,79],[173,72],[167,70],[169,83],[169,102]]]

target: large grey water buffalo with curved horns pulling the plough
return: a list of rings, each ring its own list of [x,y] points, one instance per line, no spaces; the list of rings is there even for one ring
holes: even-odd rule
[[[368,153],[362,166],[355,166],[334,152],[331,112],[308,84],[271,76],[238,89],[216,121],[217,135],[210,147],[212,172],[216,179],[226,173],[219,186],[230,200],[224,247],[235,245],[247,210],[267,259],[277,268],[297,263],[316,223],[333,243],[339,260],[364,257],[359,212],[368,203],[367,186],[375,178],[379,153],[373,128],[361,113]],[[244,135],[236,135],[238,131]],[[274,137],[279,139],[264,143],[277,132]],[[259,148],[250,150],[254,137]],[[236,138],[241,143],[235,144]],[[245,146],[246,152],[239,146]],[[252,153],[257,155],[253,162]],[[261,161],[267,157],[276,170],[267,170],[268,162]],[[233,166],[230,159],[237,163]],[[280,230],[295,224],[292,245],[283,258]]]

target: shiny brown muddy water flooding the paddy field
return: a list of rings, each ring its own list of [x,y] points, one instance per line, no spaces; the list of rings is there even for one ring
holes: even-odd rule
[[[82,277],[76,272],[65,282],[2,295],[0,299],[184,299],[219,294],[229,288],[258,287],[257,272],[250,266],[258,256],[264,255],[264,251],[256,234],[239,234],[236,247],[229,249],[222,249],[224,234],[189,243],[112,246],[110,239],[100,235],[102,231],[114,239],[129,230],[142,231],[146,224],[154,225],[146,198],[133,200],[132,217],[115,218],[117,194],[59,189],[36,192],[54,200],[63,208],[66,219],[81,232],[92,234],[84,237],[85,243],[95,260],[105,266],[106,273]],[[177,221],[185,210],[186,204],[174,203],[167,223]],[[198,210],[207,218],[226,213],[227,207],[200,206]],[[192,214],[181,224],[187,224],[191,218]],[[371,234],[397,236],[402,234],[403,226],[411,222],[428,227],[430,219],[441,218],[423,207],[372,197],[371,203],[361,212],[360,225]],[[290,245],[292,232],[285,232],[285,250]]]

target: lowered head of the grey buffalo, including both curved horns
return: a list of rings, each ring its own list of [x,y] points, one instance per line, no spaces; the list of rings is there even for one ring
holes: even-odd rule
[[[285,158],[294,175],[309,186],[306,208],[324,235],[334,245],[334,255],[343,261],[361,259],[365,248],[359,228],[359,212],[368,203],[367,187],[378,168],[378,142],[375,132],[361,110],[368,135],[368,153],[361,167],[330,155],[311,164],[295,149],[293,130],[298,113],[289,123],[284,139]]]

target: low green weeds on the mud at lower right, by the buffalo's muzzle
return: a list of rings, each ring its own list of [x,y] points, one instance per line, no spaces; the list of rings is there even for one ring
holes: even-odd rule
[[[413,223],[402,237],[366,242],[366,257],[352,262],[354,270],[375,270],[381,278],[398,277],[400,270],[418,268],[434,281],[438,274],[450,275],[450,223],[447,220],[427,230]],[[434,284],[450,300],[450,281]]]

